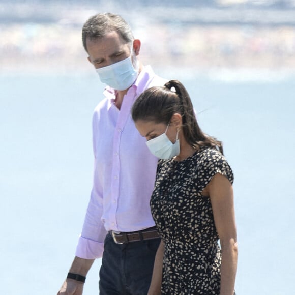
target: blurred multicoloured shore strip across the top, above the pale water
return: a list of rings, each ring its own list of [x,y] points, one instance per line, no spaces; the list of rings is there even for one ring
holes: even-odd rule
[[[295,0],[22,0],[0,3],[0,71],[88,69],[81,26],[120,13],[141,58],[185,68],[295,68]]]

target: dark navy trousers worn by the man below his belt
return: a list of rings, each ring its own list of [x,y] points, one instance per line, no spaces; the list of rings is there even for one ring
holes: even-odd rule
[[[146,295],[160,240],[120,245],[107,234],[99,272],[100,295]]]

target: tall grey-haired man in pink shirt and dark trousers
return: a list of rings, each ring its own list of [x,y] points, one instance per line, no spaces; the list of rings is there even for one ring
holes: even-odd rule
[[[101,295],[147,294],[160,243],[150,212],[157,158],[136,130],[130,110],[146,88],[166,80],[140,63],[140,41],[119,15],[88,19],[82,41],[107,86],[93,116],[91,198],[76,256],[58,294],[82,294],[86,274],[100,257]]]

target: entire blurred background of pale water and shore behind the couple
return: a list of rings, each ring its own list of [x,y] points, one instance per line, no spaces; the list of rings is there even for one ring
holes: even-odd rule
[[[235,175],[237,295],[292,293],[295,1],[0,3],[0,293],[57,293],[92,186],[92,113],[104,85],[81,27],[121,14],[142,62],[187,87]],[[97,259],[85,295],[98,294]]]

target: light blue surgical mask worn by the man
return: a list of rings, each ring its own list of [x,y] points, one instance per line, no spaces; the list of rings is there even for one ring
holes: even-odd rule
[[[106,83],[115,90],[126,90],[136,80],[139,67],[133,66],[131,56],[115,64],[96,69],[102,83]]]

